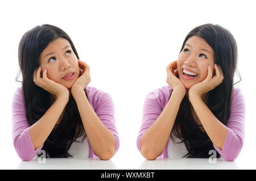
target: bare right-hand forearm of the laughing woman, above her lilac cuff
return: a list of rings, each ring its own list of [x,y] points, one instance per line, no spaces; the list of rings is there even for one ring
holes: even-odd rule
[[[210,140],[215,146],[222,150],[222,146],[226,140],[226,134],[228,133],[228,127],[222,124],[221,121],[213,115],[212,111],[209,110],[199,96],[189,95],[189,100]]]

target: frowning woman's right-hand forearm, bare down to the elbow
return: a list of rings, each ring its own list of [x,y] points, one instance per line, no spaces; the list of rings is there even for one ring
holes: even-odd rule
[[[115,153],[115,138],[113,133],[102,123],[90,106],[82,89],[72,91],[82,119],[86,136],[94,152],[100,159],[110,159]]]

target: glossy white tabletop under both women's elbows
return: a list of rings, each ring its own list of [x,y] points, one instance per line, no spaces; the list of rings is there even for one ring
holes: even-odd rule
[[[41,162],[41,163],[40,163]],[[110,159],[102,161],[96,158],[76,159],[76,158],[47,158],[43,160],[32,159],[31,161],[20,161],[16,169],[85,169],[85,170],[176,170],[176,169],[256,169],[253,165],[246,164],[245,160],[228,162],[222,158],[217,158],[216,162],[208,158],[161,158],[154,161],[146,159]],[[14,165],[13,165],[14,166]],[[15,168],[14,168],[15,169]]]

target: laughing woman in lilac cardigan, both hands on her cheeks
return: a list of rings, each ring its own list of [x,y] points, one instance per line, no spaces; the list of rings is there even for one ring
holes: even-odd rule
[[[144,102],[137,147],[146,159],[233,161],[245,137],[245,102],[233,86],[237,45],[225,28],[204,24],[185,37],[167,83]]]

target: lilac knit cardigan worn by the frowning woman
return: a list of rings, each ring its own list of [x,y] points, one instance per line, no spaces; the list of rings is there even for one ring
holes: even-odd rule
[[[97,90],[93,86],[86,87],[90,106],[96,112],[102,123],[113,133],[115,138],[115,153],[119,148],[119,138],[115,128],[114,105],[107,92]],[[34,150],[23,104],[22,88],[18,87],[13,96],[13,144],[16,153],[23,161],[30,161],[42,149],[43,145]],[[89,158],[98,158],[89,144]]]

